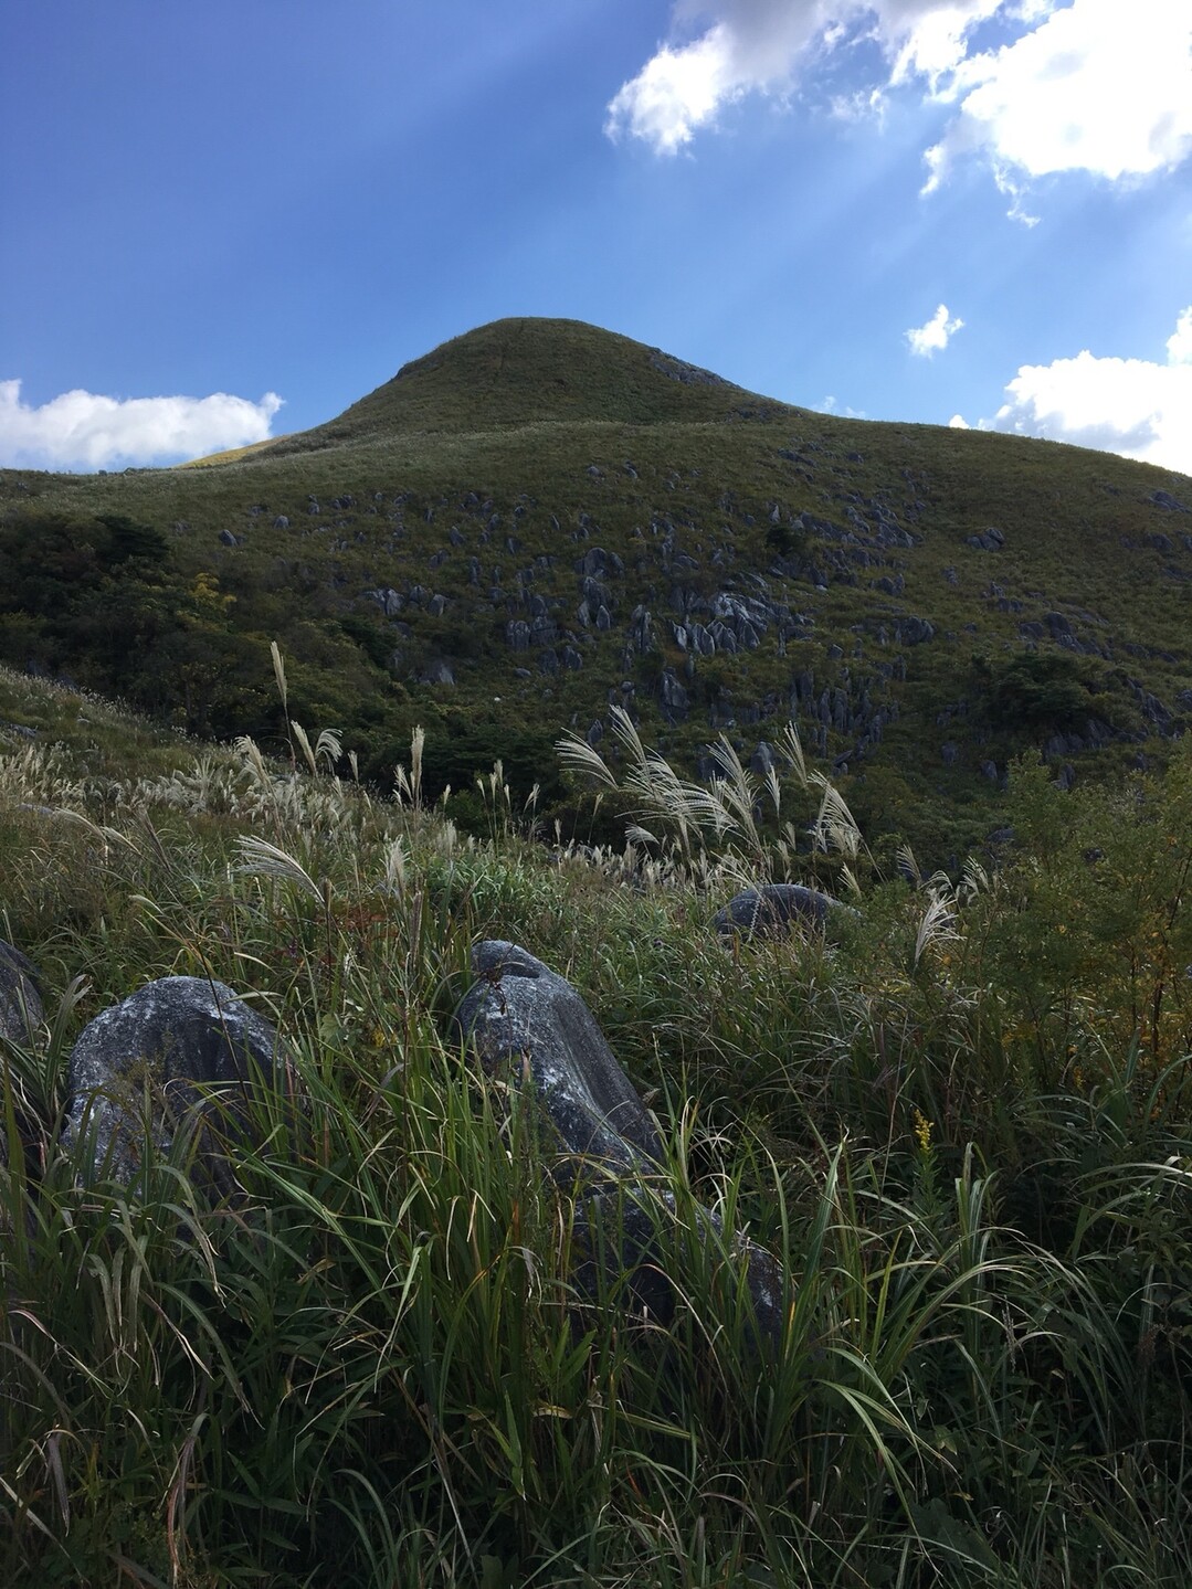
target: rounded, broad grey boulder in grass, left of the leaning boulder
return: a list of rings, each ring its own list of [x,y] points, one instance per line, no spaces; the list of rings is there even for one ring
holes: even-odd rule
[[[127,1185],[140,1166],[148,1104],[157,1146],[168,1149],[183,1125],[197,1128],[205,1168],[226,1190],[230,1171],[203,1117],[218,1112],[242,1123],[251,1090],[269,1087],[283,1060],[275,1028],[223,982],[148,982],[79,1034],[70,1055],[65,1141],[86,1138],[86,1171]]]

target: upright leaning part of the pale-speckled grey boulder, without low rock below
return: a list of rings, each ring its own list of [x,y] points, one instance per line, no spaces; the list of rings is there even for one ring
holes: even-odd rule
[[[455,1026],[485,1069],[529,1077],[564,1154],[620,1171],[656,1168],[658,1128],[571,982],[499,939],[477,944],[472,971]]]

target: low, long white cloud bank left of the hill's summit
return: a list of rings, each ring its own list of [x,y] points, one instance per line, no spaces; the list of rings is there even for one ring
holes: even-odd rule
[[[0,464],[24,469],[106,469],[200,458],[269,439],[281,407],[211,397],[100,397],[73,391],[40,408],[21,402],[21,381],[0,381]]]

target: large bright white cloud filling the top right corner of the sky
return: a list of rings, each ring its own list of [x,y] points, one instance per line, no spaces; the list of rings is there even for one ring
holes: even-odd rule
[[[974,51],[997,21],[1014,38]],[[702,29],[702,30],[701,30]],[[609,105],[606,132],[674,154],[747,94],[790,91],[812,65],[869,59],[852,105],[911,89],[957,106],[927,151],[925,191],[965,156],[984,157],[1016,205],[1025,183],[1082,170],[1117,181],[1192,153],[1187,0],[677,0],[672,37]],[[844,100],[838,100],[844,103]]]

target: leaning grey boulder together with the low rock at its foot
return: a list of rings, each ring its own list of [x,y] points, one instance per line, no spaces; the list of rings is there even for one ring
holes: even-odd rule
[[[517,944],[488,941],[472,950],[478,980],[455,1015],[490,1073],[520,1087],[529,1082],[561,1158],[556,1181],[575,1190],[572,1278],[588,1295],[618,1289],[633,1309],[669,1322],[675,1290],[664,1268],[663,1220],[677,1216],[663,1177],[658,1128],[604,1041],[575,988]],[[696,1209],[696,1236],[720,1243],[718,1219]],[[722,1274],[749,1287],[758,1343],[784,1330],[784,1276],[776,1260],[749,1241],[725,1244]],[[741,1278],[741,1279],[739,1279]]]

